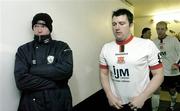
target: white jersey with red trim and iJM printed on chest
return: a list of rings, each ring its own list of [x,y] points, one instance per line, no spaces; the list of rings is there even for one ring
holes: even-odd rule
[[[123,42],[106,43],[100,54],[100,68],[110,70],[110,86],[123,104],[138,96],[148,85],[149,68],[162,67],[159,50],[148,39],[129,37]]]

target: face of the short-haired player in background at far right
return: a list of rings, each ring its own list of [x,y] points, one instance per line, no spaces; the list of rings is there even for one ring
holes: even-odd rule
[[[157,24],[156,31],[158,34],[158,38],[164,38],[166,35],[167,27],[165,24]]]

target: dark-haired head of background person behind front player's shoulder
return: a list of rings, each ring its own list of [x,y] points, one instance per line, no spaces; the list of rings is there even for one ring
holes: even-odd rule
[[[141,33],[141,38],[144,39],[151,39],[151,29],[150,28],[143,28]]]

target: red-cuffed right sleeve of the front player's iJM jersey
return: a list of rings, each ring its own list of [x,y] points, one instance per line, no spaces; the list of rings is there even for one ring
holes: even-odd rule
[[[160,51],[156,45],[150,41],[149,45],[149,55],[148,62],[151,70],[155,70],[162,67],[162,60],[160,56]]]

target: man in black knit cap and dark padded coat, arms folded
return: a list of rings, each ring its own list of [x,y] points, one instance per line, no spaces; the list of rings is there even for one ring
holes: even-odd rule
[[[71,111],[68,80],[73,72],[72,50],[52,40],[51,17],[38,13],[32,20],[34,40],[20,46],[15,59],[15,80],[21,92],[18,111]]]

